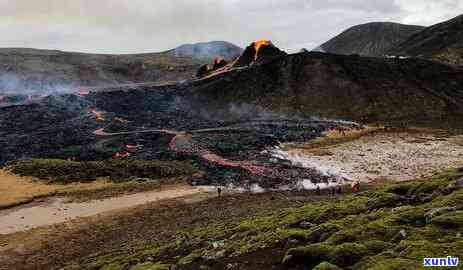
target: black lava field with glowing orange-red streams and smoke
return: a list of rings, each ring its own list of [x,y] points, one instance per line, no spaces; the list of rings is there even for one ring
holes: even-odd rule
[[[190,160],[194,185],[296,185],[329,181],[269,151],[355,124],[262,114],[253,106],[202,111],[182,85],[48,96],[0,108],[0,163],[27,158]]]

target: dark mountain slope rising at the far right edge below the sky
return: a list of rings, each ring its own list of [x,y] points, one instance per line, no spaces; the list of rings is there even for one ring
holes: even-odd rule
[[[463,65],[463,15],[415,33],[391,53],[423,56]]]

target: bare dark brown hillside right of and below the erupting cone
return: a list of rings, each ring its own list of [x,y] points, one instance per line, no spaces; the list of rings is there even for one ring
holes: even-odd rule
[[[211,78],[202,110],[252,104],[281,115],[434,125],[463,116],[463,70],[420,59],[299,53]]]

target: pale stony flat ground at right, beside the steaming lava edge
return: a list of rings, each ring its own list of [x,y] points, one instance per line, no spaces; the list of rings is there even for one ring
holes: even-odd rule
[[[280,154],[299,166],[350,180],[405,181],[463,166],[463,136],[375,133],[338,145],[293,148]]]

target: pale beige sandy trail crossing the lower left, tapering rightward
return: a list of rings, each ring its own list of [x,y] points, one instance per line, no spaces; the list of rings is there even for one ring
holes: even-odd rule
[[[206,193],[208,190],[182,185],[168,190],[142,192],[82,203],[68,203],[66,198],[53,198],[37,205],[25,205],[0,211],[0,234],[11,234],[150,202]]]

